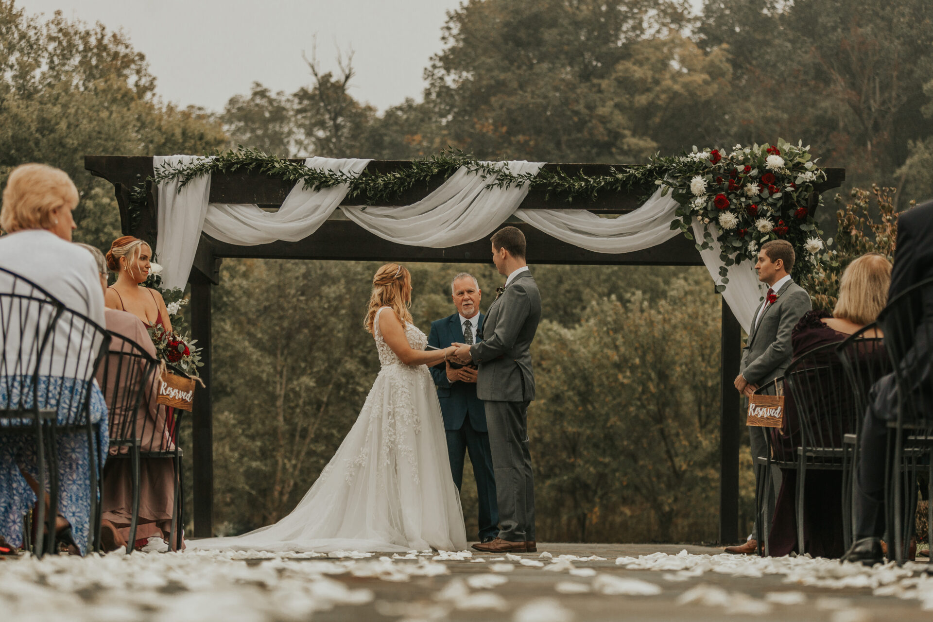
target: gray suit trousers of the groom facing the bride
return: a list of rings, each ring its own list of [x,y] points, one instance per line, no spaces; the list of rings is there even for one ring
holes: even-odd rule
[[[528,402],[485,402],[493,454],[499,537],[535,540],[535,479],[528,450]]]

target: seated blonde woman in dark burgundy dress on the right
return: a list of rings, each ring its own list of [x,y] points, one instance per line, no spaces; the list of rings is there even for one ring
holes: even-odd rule
[[[807,311],[791,333],[793,357],[799,358],[819,346],[840,343],[850,335],[870,325],[878,318],[887,301],[887,289],[891,283],[891,263],[884,256],[871,253],[853,261],[842,273],[839,298],[832,313]],[[881,337],[880,331],[869,331],[866,338]],[[883,350],[865,352],[866,356],[884,357]],[[816,366],[838,366],[839,356],[835,350],[821,352],[824,360],[814,359]],[[807,372],[802,372],[807,373]],[[841,375],[834,380],[841,380]],[[816,384],[828,382],[829,378],[814,378]],[[827,387],[826,391],[834,391]],[[822,437],[834,447],[842,447],[839,430],[844,409],[854,408],[854,395],[838,391],[837,412],[820,412]],[[797,408],[785,388],[785,420],[783,428],[772,430],[774,453],[780,460],[796,461],[797,445],[801,439]],[[818,433],[815,433],[818,434]],[[796,469],[783,469],[781,490],[774,506],[774,521],[769,536],[769,552],[774,556],[787,555],[798,546],[795,528],[794,507],[796,501]],[[845,552],[842,541],[842,471],[811,469],[807,471],[804,489],[803,534],[805,551],[814,557],[838,558]]]

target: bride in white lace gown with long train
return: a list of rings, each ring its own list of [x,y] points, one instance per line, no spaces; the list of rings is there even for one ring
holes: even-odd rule
[[[444,423],[426,366],[453,354],[425,351],[411,324],[411,274],[385,264],[372,278],[366,329],[381,369],[350,433],[291,514],[274,525],[188,548],[266,551],[408,551],[466,548]]]

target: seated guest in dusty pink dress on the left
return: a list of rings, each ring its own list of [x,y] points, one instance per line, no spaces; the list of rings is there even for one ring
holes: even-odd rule
[[[85,246],[82,244],[82,246]],[[104,254],[93,246],[86,246],[97,262],[97,270],[101,272],[101,282],[106,289],[107,265]],[[127,311],[106,309],[104,311],[107,330],[121,335],[143,348],[150,356],[156,357],[156,348],[146,331],[143,322]],[[98,369],[97,381],[104,388],[104,395],[110,397],[116,392],[120,394],[122,387],[111,386],[116,381],[117,359],[119,352],[127,351],[123,341],[114,338],[110,342],[110,365],[107,366],[109,376],[114,380],[104,378],[104,366]],[[124,379],[125,380],[125,376]],[[135,413],[111,410],[110,430],[113,435],[121,429],[121,424],[128,417],[136,418],[136,435],[140,438],[142,451],[172,450],[174,444],[169,438],[166,428],[166,411],[156,403],[155,380],[152,381],[140,401]],[[119,406],[119,405],[111,405]],[[118,451],[126,453],[126,447],[112,447],[110,454]],[[146,458],[139,463],[139,517],[136,519],[135,546],[146,546],[151,537],[160,538],[166,542],[172,530],[172,511],[174,509],[174,461],[171,458]],[[129,460],[108,460],[104,464],[104,491],[102,499],[102,532],[101,544],[105,551],[113,550],[119,546],[126,546],[130,537],[130,520],[132,518],[132,470]]]

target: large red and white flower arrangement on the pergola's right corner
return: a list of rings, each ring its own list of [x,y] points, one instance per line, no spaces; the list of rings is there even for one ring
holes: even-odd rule
[[[719,270],[721,292],[729,283],[728,267],[755,262],[761,244],[770,240],[794,245],[800,257],[795,273],[829,261],[827,246],[832,240],[823,242],[812,213],[815,206],[809,202],[815,183],[825,179],[826,173],[811,159],[809,145],[778,139],[777,145],[735,145],[731,150],[698,151],[694,146],[656,183],[665,187],[661,194],[671,191],[680,203],[672,229],[679,228],[693,240],[693,223],[701,225],[698,250],[718,242],[725,264]]]

